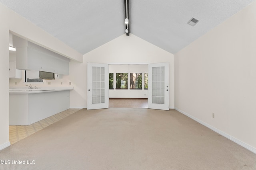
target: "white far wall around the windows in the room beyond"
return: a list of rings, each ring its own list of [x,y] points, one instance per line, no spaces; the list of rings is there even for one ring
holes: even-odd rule
[[[144,89],[144,73],[148,72],[148,64],[109,64],[108,70],[114,73],[114,89],[109,90],[109,98],[148,98],[148,90]],[[128,89],[116,89],[116,73],[128,73]],[[130,89],[130,73],[142,73],[142,89]]]

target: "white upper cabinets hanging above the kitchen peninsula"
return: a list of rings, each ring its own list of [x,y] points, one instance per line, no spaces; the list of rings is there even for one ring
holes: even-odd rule
[[[16,47],[16,68],[69,74],[70,59],[13,35]]]

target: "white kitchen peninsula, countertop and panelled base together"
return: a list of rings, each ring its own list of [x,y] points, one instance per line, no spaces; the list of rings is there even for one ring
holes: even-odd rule
[[[70,108],[73,87],[10,88],[9,125],[30,125]]]

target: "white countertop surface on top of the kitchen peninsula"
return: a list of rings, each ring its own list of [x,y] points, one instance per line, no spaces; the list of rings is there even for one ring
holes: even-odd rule
[[[57,92],[63,90],[73,90],[74,87],[42,87],[38,89],[29,89],[29,88],[10,88],[9,94],[34,94],[34,93],[46,93],[46,92]]]

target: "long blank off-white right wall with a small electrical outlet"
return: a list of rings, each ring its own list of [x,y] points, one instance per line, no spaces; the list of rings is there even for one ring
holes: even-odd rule
[[[256,152],[256,2],[176,53],[174,63],[175,108]]]

